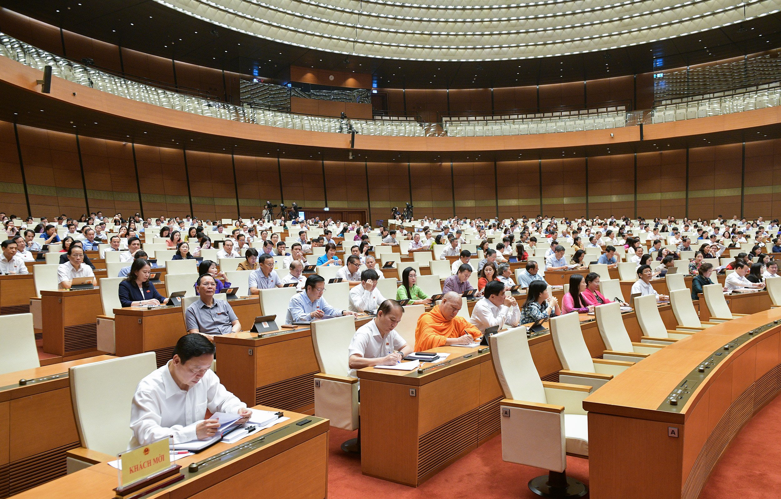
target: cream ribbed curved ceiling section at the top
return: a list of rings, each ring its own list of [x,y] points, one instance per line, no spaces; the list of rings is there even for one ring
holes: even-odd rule
[[[569,56],[768,16],[778,0],[154,0],[200,20],[325,52],[416,61]]]

